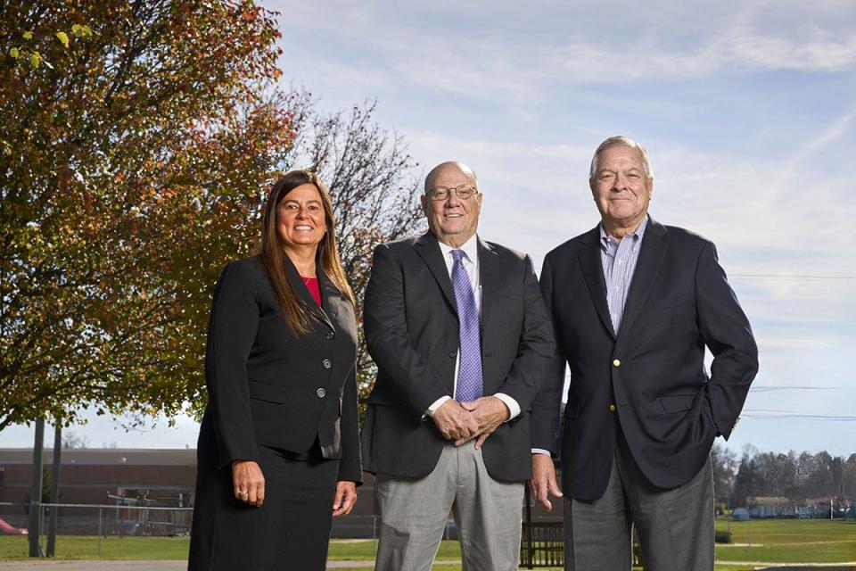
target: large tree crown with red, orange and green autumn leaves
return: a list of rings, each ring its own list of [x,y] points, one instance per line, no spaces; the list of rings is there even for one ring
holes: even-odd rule
[[[0,429],[196,393],[292,147],[277,37],[248,0],[0,3]]]

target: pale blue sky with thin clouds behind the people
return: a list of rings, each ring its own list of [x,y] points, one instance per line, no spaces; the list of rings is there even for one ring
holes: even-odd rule
[[[377,99],[416,175],[478,174],[481,236],[530,252],[595,226],[588,162],[646,145],[651,213],[712,239],[761,373],[728,446],[856,451],[856,9],[851,0],[263,2],[283,12],[284,82],[333,111]],[[93,446],[195,446],[196,426]],[[0,446],[31,445],[31,429]]]

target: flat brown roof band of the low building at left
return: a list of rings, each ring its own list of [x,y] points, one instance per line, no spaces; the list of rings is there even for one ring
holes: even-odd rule
[[[45,448],[45,465],[53,464],[53,449]],[[31,448],[0,448],[0,466],[32,464]],[[63,448],[62,466],[196,466],[196,450],[152,448]]]

